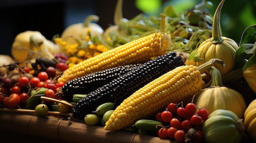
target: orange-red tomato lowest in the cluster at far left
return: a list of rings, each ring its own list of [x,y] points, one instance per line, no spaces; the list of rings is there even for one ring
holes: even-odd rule
[[[4,107],[15,108],[20,103],[20,96],[16,93],[11,94],[9,97],[3,99]]]

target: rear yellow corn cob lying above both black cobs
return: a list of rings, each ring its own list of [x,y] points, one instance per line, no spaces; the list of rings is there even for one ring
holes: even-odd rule
[[[127,64],[144,63],[150,57],[166,54],[171,46],[171,36],[164,33],[152,33],[132,42],[128,42],[95,57],[85,59],[63,72],[58,81],[70,81],[107,68]]]

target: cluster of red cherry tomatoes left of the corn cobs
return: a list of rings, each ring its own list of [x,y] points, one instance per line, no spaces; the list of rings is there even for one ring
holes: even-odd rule
[[[26,74],[23,74],[16,83],[13,83],[8,77],[3,77],[1,79],[2,86],[0,86],[0,105],[2,104],[4,108],[22,107],[29,99],[29,92],[40,87],[48,88],[45,91],[46,97],[56,99],[55,95],[58,88],[61,88],[65,83],[57,82],[54,77],[57,70],[64,71],[67,68],[67,64],[59,62],[56,67],[49,66],[33,77],[27,77]],[[29,70],[27,67],[23,68],[25,73],[29,73]]]

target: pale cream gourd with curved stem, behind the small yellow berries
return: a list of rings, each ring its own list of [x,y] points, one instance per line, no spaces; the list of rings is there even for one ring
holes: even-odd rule
[[[97,15],[89,15],[83,23],[75,23],[67,26],[67,28],[61,34],[61,38],[68,42],[69,44],[75,44],[75,38],[85,38],[88,35],[88,31],[92,37],[101,36],[104,32],[102,27],[92,21],[98,21],[99,17]]]

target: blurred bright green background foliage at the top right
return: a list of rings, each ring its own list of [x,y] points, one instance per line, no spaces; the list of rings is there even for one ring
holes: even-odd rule
[[[161,4],[155,4],[155,7],[151,5],[152,11],[148,9],[145,11],[143,7],[148,7],[150,1],[155,3],[160,1]],[[213,17],[221,0],[208,1],[213,4],[211,8],[207,7]],[[172,5],[176,13],[186,13],[201,2],[202,0],[136,0],[135,5],[148,15],[159,16],[168,5]],[[225,0],[220,15],[222,36],[229,37],[239,44],[243,31],[254,24],[256,24],[256,0]]]

